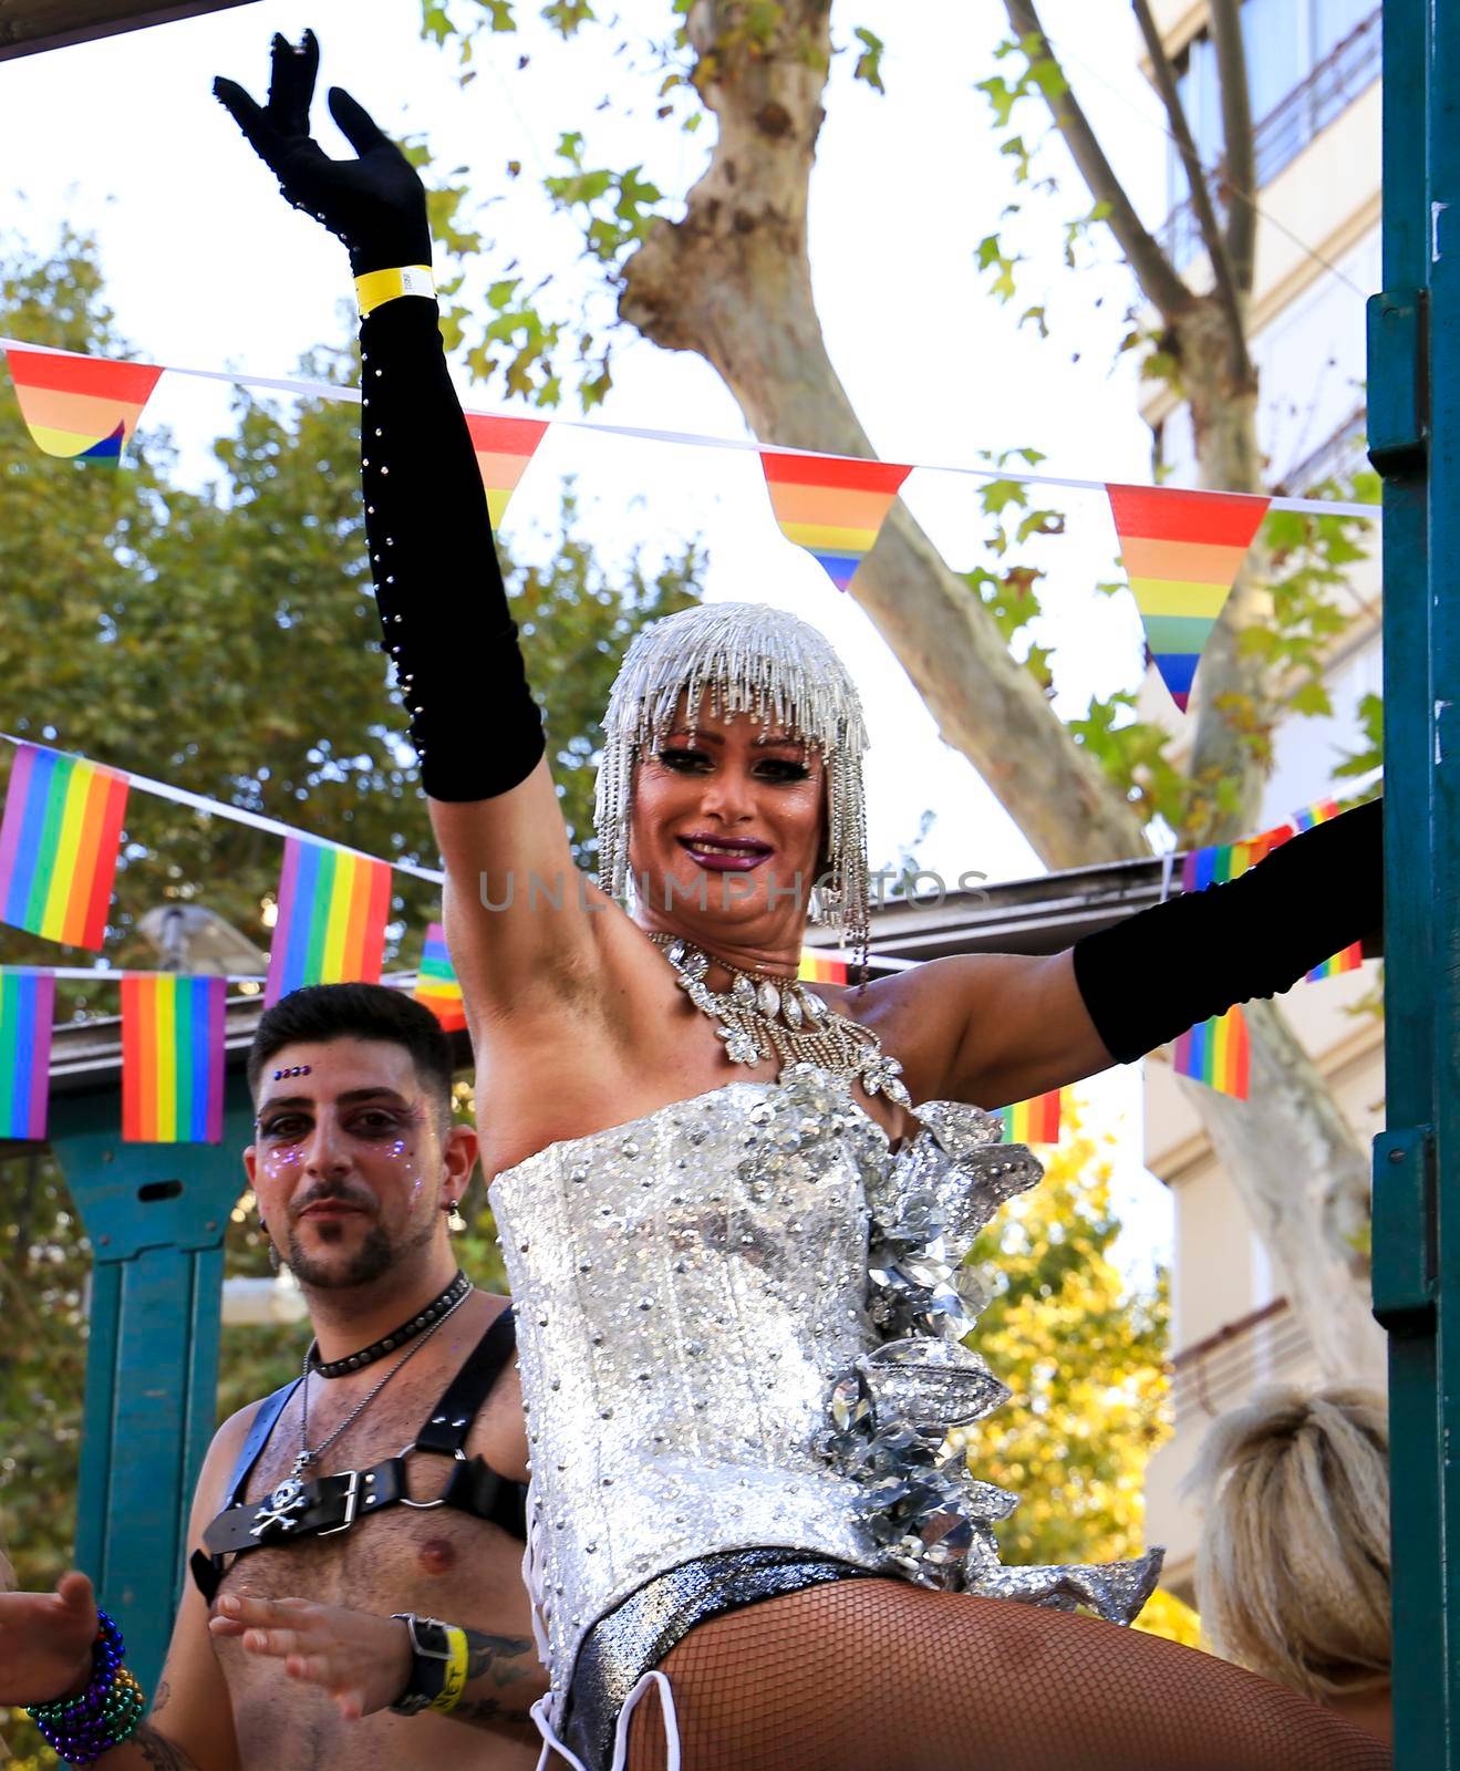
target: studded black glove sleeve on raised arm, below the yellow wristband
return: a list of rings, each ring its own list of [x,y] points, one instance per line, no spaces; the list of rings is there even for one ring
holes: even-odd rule
[[[436,303],[386,301],[361,322],[360,345],[370,574],[422,786],[432,799],[493,799],[537,767],[542,715]]]

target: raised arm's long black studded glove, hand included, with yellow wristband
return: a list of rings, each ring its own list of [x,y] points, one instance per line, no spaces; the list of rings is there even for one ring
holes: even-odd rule
[[[338,87],[330,113],[356,152],[310,136],[319,44],[273,39],[268,103],[213,90],[280,189],[349,250],[361,303],[361,482],[383,643],[411,714],[425,792],[478,800],[544,751],[493,545],[477,457],[438,328],[431,227],[416,170]]]

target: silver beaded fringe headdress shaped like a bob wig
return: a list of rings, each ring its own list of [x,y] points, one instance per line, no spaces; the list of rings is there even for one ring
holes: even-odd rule
[[[820,753],[826,767],[826,884],[812,914],[856,947],[866,946],[866,800],[861,758],[866,726],[847,666],[806,622],[764,602],[707,602],[636,634],[604,714],[604,751],[594,822],[599,884],[622,898],[629,886],[634,765],[663,744],[684,705],[719,717],[749,714]]]

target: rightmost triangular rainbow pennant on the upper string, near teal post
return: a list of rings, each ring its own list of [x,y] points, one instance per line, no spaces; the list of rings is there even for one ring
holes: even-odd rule
[[[1164,485],[1111,483],[1106,492],[1152,662],[1185,712],[1201,648],[1270,499]]]

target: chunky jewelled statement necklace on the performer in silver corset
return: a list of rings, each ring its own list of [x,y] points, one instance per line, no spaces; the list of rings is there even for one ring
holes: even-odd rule
[[[861,1022],[838,1015],[796,978],[746,972],[716,958],[682,935],[650,935],[675,969],[680,990],[716,1024],[732,1064],[758,1064],[776,1057],[785,1064],[815,1064],[847,1082],[861,1082],[868,1094],[886,1094],[898,1107],[912,1096],[902,1082],[902,1064],[888,1057],[882,1041]],[[728,990],[711,990],[711,963],[730,972]]]

